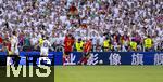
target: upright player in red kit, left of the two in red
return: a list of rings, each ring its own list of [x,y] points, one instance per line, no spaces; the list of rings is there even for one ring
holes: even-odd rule
[[[63,55],[63,65],[66,62],[70,62],[70,53],[73,52],[74,38],[72,35],[67,35],[64,39],[64,55]]]

